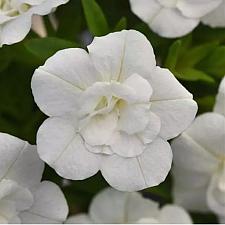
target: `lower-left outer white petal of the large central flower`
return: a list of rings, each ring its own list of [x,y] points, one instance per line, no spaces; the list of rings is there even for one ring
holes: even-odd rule
[[[70,121],[47,119],[38,130],[37,145],[41,159],[64,178],[85,179],[99,170],[99,155],[85,148]]]

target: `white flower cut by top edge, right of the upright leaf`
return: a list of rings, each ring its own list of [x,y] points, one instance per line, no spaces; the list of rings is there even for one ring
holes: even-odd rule
[[[200,18],[214,10],[222,0],[130,0],[131,9],[149,27],[167,38],[188,34]]]

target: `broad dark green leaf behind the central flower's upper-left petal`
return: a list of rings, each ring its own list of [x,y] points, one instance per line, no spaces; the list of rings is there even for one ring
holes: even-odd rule
[[[55,37],[30,39],[24,45],[29,52],[42,61],[45,61],[61,49],[77,47],[74,42]]]

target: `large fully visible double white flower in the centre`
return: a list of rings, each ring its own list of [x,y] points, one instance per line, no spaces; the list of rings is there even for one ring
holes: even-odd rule
[[[64,178],[101,171],[123,191],[158,185],[172,154],[166,140],[193,120],[192,95],[156,66],[151,44],[134,30],[57,52],[32,78],[34,99],[50,118],[37,134],[38,153]]]

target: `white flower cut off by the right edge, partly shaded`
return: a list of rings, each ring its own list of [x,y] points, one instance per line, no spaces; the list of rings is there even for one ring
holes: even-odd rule
[[[187,209],[211,209],[225,216],[225,78],[215,112],[196,118],[192,126],[172,142],[174,197]]]

